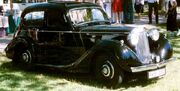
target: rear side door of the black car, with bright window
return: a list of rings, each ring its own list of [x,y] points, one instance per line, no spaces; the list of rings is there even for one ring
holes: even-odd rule
[[[29,38],[34,40],[37,45],[33,45],[35,48],[35,56],[37,58],[35,63],[44,58],[44,42],[46,37],[43,37],[42,31],[45,30],[45,10],[31,10],[24,15],[24,20],[22,22],[22,27],[24,34]]]

